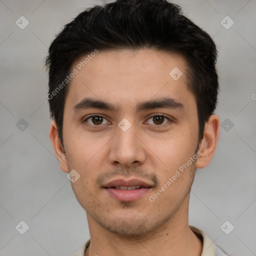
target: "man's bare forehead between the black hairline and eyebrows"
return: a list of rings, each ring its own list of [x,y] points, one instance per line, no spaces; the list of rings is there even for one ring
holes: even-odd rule
[[[85,96],[110,100],[117,107],[154,96],[194,100],[186,85],[185,59],[175,53],[154,49],[98,51],[77,58],[74,69],[66,97],[71,104]]]

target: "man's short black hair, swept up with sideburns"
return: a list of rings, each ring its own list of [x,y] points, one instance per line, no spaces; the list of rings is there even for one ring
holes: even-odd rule
[[[216,45],[211,37],[167,0],[117,0],[79,13],[49,47],[47,94],[63,146],[63,109],[73,61],[96,50],[151,48],[183,56],[187,86],[196,99],[198,139],[217,103]],[[65,83],[63,83],[65,81]],[[62,84],[62,86],[61,86]]]

